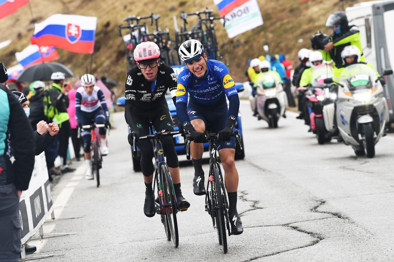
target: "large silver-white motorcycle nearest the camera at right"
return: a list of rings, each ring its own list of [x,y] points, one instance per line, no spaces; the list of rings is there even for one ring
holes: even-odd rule
[[[383,76],[392,74],[386,69]],[[339,76],[336,119],[344,144],[351,145],[356,155],[375,156],[375,144],[388,122],[388,104],[376,72],[366,64],[344,68]],[[333,83],[333,79],[325,79]],[[336,83],[336,82],[335,82]]]

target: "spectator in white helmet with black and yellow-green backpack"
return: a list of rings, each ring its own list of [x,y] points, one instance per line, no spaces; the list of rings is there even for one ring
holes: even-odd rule
[[[69,147],[70,121],[67,107],[69,98],[67,96],[67,87],[63,86],[65,75],[62,72],[54,72],[51,76],[53,80],[52,87],[48,95],[45,96],[45,113],[48,119],[53,118],[54,122],[59,125],[59,155],[61,158],[61,172],[72,172],[75,169],[67,165],[67,150]]]

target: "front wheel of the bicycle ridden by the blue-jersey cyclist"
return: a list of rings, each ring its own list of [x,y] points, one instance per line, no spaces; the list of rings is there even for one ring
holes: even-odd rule
[[[217,230],[217,238],[219,239],[219,244],[223,245],[223,253],[227,253],[227,232],[226,232],[226,223],[225,223],[225,200],[223,197],[222,186],[220,178],[220,168],[217,163],[212,165],[213,172],[213,197],[215,199],[216,207],[216,230]]]

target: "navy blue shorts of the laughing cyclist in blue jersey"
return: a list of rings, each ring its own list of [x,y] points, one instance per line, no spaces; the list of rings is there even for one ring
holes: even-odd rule
[[[187,106],[188,115],[190,121],[194,119],[201,119],[205,123],[205,130],[210,133],[219,133],[226,127],[227,115],[229,114],[229,108],[227,102],[219,102],[215,105],[202,105],[193,98],[190,98]],[[235,149],[235,138],[231,137],[230,141],[218,141],[215,140],[217,150],[223,148]]]

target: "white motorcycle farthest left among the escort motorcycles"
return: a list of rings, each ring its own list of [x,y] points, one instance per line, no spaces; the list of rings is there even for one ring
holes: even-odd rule
[[[264,119],[269,127],[278,127],[278,121],[284,115],[287,106],[287,96],[284,92],[280,77],[274,72],[262,73],[255,82],[256,99],[249,98],[252,110],[257,107],[258,120]]]

